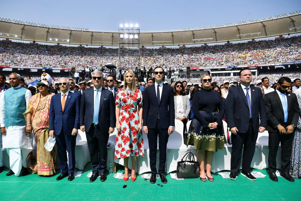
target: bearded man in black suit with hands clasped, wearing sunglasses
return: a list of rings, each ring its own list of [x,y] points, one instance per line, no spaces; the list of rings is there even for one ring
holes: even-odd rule
[[[278,88],[266,94],[264,101],[267,108],[267,130],[269,131],[269,176],[278,181],[276,176],[276,155],[281,143],[281,176],[293,182],[289,175],[294,131],[300,117],[297,96],[288,93],[291,79],[282,77],[277,82]]]

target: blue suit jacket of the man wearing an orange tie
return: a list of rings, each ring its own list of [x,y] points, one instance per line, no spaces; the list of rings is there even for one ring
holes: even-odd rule
[[[49,130],[59,135],[63,130],[65,135],[71,135],[72,129],[79,129],[80,96],[69,91],[64,110],[62,111],[61,93],[51,97],[49,110]]]

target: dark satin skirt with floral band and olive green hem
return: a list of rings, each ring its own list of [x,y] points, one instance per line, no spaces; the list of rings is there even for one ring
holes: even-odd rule
[[[217,122],[219,112],[205,112],[199,111],[200,114],[207,122]],[[194,145],[194,149],[217,151],[217,149],[224,149],[226,144],[226,138],[224,136],[224,128],[222,125],[218,125],[217,129],[210,129],[203,127],[197,120],[193,119],[188,129],[187,141],[185,144]]]

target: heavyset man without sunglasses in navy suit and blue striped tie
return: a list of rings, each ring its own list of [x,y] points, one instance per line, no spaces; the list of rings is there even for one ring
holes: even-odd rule
[[[240,84],[229,90],[226,99],[226,119],[232,133],[230,179],[236,179],[244,147],[241,175],[250,180],[256,180],[251,174],[251,162],[258,132],[265,131],[265,127],[267,127],[267,111],[261,90],[250,85],[251,71],[249,69],[241,70],[239,79]]]

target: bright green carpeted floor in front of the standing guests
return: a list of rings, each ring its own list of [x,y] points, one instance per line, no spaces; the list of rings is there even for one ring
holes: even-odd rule
[[[114,174],[108,175],[105,182],[99,178],[90,183],[87,174],[91,171],[89,163],[82,172],[81,177],[75,177],[73,181],[64,178],[56,181],[53,177],[40,177],[27,175],[24,177],[7,177],[8,169],[0,174],[0,200],[301,200],[301,180],[288,182],[279,177],[278,182],[273,182],[269,177],[257,178],[250,181],[241,175],[235,181],[223,179],[220,175],[213,174],[214,182],[202,182],[199,179],[175,180],[167,175],[167,184],[163,187],[157,179],[156,184],[149,180],[144,181],[141,175],[135,182],[124,182],[114,178]],[[119,170],[122,172],[122,170]],[[258,170],[256,170],[258,171]],[[267,175],[266,170],[259,170]],[[126,188],[122,186],[126,184]]]

